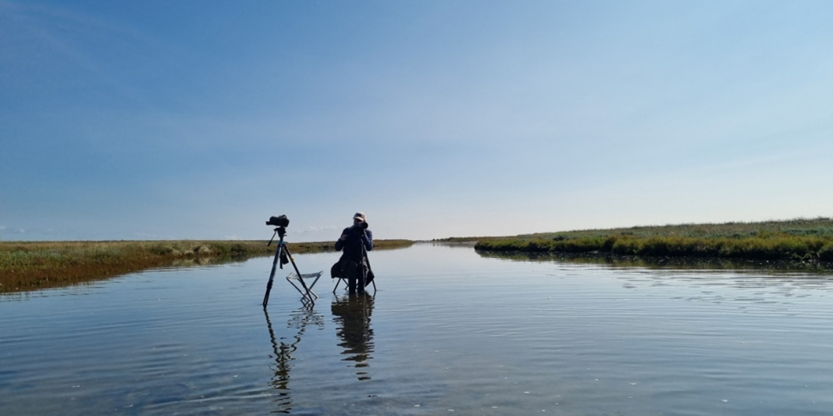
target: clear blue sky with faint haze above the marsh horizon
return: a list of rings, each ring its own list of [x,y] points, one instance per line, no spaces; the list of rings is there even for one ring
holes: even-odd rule
[[[833,2],[0,0],[0,240],[833,216]]]

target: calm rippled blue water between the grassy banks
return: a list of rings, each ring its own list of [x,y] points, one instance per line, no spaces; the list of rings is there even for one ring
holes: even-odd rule
[[[0,414],[833,409],[833,276],[371,255],[375,296],[276,279],[267,314],[268,258],[0,295]]]

